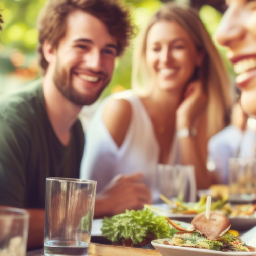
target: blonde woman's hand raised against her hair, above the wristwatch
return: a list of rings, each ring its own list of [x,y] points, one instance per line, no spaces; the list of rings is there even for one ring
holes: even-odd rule
[[[185,93],[184,99],[176,111],[176,129],[193,127],[195,121],[207,105],[205,95],[200,80],[191,82]]]

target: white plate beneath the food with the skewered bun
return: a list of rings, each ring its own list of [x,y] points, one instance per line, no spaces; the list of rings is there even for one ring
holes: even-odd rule
[[[162,256],[207,256],[207,255],[234,255],[234,256],[249,256],[256,255],[256,252],[224,252],[212,251],[198,248],[187,248],[175,245],[158,244],[155,241],[164,241],[165,239],[153,240],[151,244],[162,254]]]

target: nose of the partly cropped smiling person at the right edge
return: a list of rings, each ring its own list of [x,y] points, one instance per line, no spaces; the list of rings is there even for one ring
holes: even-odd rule
[[[222,46],[232,47],[243,39],[245,30],[239,8],[229,7],[215,33],[215,39]]]

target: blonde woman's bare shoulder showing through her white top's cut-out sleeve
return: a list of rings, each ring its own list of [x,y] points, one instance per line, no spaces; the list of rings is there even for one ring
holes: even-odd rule
[[[118,147],[122,145],[131,116],[131,104],[125,99],[113,98],[106,104],[103,121]]]

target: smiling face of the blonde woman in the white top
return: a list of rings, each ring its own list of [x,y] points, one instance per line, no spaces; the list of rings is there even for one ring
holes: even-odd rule
[[[160,88],[183,91],[202,58],[187,32],[176,22],[162,20],[148,31],[147,65]]]

